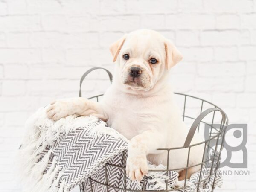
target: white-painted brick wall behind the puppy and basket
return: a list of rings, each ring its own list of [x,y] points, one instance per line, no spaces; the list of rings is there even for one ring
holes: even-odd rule
[[[28,116],[77,96],[90,67],[113,71],[109,44],[140,28],[161,32],[183,53],[171,75],[177,92],[221,106],[230,123],[249,124],[250,177],[225,176],[218,191],[255,191],[256,0],[0,0],[1,192],[20,191],[12,157]],[[95,72],[84,96],[108,85]]]

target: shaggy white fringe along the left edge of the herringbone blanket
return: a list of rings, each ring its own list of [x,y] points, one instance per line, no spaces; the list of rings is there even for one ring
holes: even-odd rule
[[[44,175],[42,174],[47,169],[49,159],[52,158],[52,150],[49,149],[47,152],[44,150],[47,147],[50,148],[63,133],[75,131],[76,128],[90,127],[90,136],[92,137],[97,138],[98,136],[111,135],[115,138],[121,137],[122,140],[128,142],[124,136],[118,134],[113,128],[106,127],[105,122],[99,122],[99,119],[94,116],[81,116],[77,118],[77,115],[71,115],[61,118],[56,122],[52,121],[47,117],[47,107],[39,108],[26,121],[25,135],[15,158],[15,167],[18,170],[17,176],[24,183],[24,191],[54,191],[54,187],[51,186],[58,185],[61,179],[61,168],[56,167],[53,161],[47,172]],[[98,125],[99,123],[100,125]],[[88,124],[96,126],[88,126]],[[104,125],[102,126],[102,124]],[[57,180],[55,177],[57,177]],[[68,191],[68,189],[65,189],[66,185],[64,181],[61,181],[59,191]]]

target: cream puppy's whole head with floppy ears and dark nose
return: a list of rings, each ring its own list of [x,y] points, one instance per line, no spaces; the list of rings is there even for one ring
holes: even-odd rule
[[[150,90],[165,70],[182,59],[180,52],[158,32],[138,30],[125,35],[110,47],[118,62],[119,76],[125,87]]]

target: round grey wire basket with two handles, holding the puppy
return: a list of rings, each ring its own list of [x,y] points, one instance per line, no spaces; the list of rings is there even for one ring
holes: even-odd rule
[[[84,78],[87,76],[88,73],[90,73],[93,70],[96,69],[104,69],[100,67],[94,67],[90,70],[88,70],[86,73],[81,78],[80,81],[80,91],[79,91],[79,96],[81,96],[81,84]],[[110,81],[112,82],[112,75],[111,73],[104,69],[110,78]],[[97,102],[100,101],[101,97],[103,94],[96,95],[93,97],[90,97],[88,99],[93,99]],[[186,179],[187,178],[187,170],[190,167],[193,166],[200,166],[200,174],[199,174],[199,180],[194,183],[195,184],[195,191],[199,191],[199,186],[205,182],[209,182],[210,179],[213,179],[213,184],[212,184],[212,190],[214,191],[215,189],[215,179],[216,179],[216,174],[218,172],[218,169],[220,167],[220,160],[221,160],[221,151],[224,148],[224,135],[226,132],[226,128],[228,125],[228,118],[226,113],[219,108],[217,105],[208,102],[204,99],[200,99],[195,96],[190,96],[186,95],[183,93],[175,93],[176,100],[178,104],[180,104],[180,108],[182,109],[182,117],[183,121],[186,123],[186,125],[191,125],[189,129],[189,133],[186,137],[186,141],[182,147],[174,147],[174,148],[158,148],[157,150],[165,151],[167,154],[167,166],[166,169],[158,169],[158,170],[149,170],[149,172],[166,172],[166,175],[168,176],[169,171],[177,171],[180,169],[186,170],[186,177],[184,181],[184,186],[180,186],[175,189],[169,189],[168,188],[168,180],[166,180],[166,189],[164,190],[158,190],[161,192],[169,192],[169,191],[185,191],[188,185],[186,185]],[[195,134],[195,132],[203,132],[205,140],[200,142],[200,143],[195,143],[191,144],[192,138]],[[204,151],[202,154],[202,161],[201,163],[198,163],[193,166],[189,166],[189,155],[191,148],[197,146],[197,145],[204,145]],[[188,155],[187,155],[187,166],[186,167],[177,167],[177,168],[172,168],[169,169],[169,153],[171,150],[179,150],[179,149],[188,149]],[[125,161],[125,158],[124,158]],[[123,165],[126,165],[126,162],[123,162]],[[123,169],[123,177],[124,180],[127,180],[127,175],[125,174],[125,166],[117,166],[117,165],[112,165],[108,164],[107,166],[113,166],[113,167],[119,167],[119,169]],[[207,166],[209,168],[209,174],[207,175],[206,178],[201,179],[201,175],[203,174],[203,166]],[[106,167],[106,166],[105,166]],[[106,168],[105,168],[106,171]],[[144,176],[144,184],[143,184],[143,189],[142,190],[132,190],[132,189],[124,189],[121,187],[117,186],[111,186],[108,184],[108,175],[105,173],[106,181],[105,183],[93,180],[92,178],[90,179],[90,184],[93,186],[93,183],[97,183],[98,185],[103,185],[107,188],[107,191],[115,191],[115,192],[147,192],[150,190],[146,190],[147,187],[145,186],[145,176]],[[91,188],[93,191],[93,188]],[[84,183],[80,185],[80,192],[86,192]],[[94,191],[93,191],[94,192]]]

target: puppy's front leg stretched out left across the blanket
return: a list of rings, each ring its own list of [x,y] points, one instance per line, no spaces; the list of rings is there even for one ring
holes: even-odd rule
[[[55,121],[73,114],[80,116],[93,115],[103,121],[108,120],[108,116],[99,103],[85,98],[60,99],[52,102],[47,109],[47,116]]]

